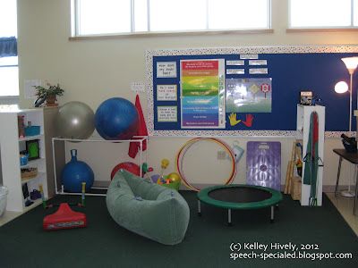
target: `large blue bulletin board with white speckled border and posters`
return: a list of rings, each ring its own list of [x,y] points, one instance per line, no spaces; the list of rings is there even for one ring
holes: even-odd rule
[[[358,46],[245,46],[149,50],[151,136],[290,136],[300,91],[326,106],[326,135],[348,130],[349,73],[341,58]],[[356,109],[358,71],[354,73]],[[352,130],[355,130],[355,120]]]

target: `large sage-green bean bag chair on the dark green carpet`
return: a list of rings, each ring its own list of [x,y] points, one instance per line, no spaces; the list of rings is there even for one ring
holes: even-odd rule
[[[189,206],[175,189],[120,170],[108,187],[106,201],[109,214],[125,229],[166,245],[184,238]]]

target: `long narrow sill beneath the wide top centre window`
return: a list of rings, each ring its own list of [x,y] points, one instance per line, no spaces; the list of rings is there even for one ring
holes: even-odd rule
[[[70,41],[91,39],[114,39],[114,38],[146,38],[146,37],[177,37],[177,36],[200,36],[200,35],[223,35],[223,34],[271,34],[273,29],[237,29],[237,30],[195,30],[177,32],[134,32],[122,34],[89,35],[69,38]]]

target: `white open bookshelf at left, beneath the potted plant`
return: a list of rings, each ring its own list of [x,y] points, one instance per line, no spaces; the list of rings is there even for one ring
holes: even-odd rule
[[[39,133],[31,136],[20,137],[21,130],[18,126],[18,116],[21,116],[25,126],[30,122],[31,126],[39,126]],[[47,192],[47,157],[44,128],[44,109],[28,109],[0,113],[0,151],[1,171],[4,186],[9,188],[6,210],[24,212],[38,204],[41,198],[31,200],[33,204],[25,205],[23,189],[27,188],[29,195],[42,184],[45,198]],[[21,165],[20,152],[32,150],[33,160],[26,165]],[[21,169],[36,168],[37,175],[32,178],[21,178]],[[22,175],[22,177],[24,177]],[[25,176],[26,177],[26,176]],[[28,197],[30,199],[30,196]]]

